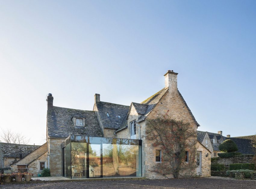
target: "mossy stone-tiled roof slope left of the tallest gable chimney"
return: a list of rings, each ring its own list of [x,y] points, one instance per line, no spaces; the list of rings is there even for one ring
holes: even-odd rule
[[[148,105],[147,109],[143,116],[139,117],[138,122],[144,120],[148,114],[153,110],[156,104],[160,101],[160,99],[164,96],[164,94],[168,91],[168,88],[163,88],[151,97],[147,98],[145,101],[141,102],[141,104]]]

